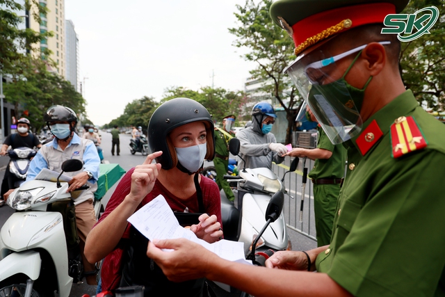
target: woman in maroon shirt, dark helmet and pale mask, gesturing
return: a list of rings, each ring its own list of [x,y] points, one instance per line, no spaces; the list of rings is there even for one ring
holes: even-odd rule
[[[88,236],[88,260],[105,258],[102,291],[142,284],[145,296],[202,296],[204,279],[175,283],[165,278],[146,255],[147,239],[127,218],[161,194],[179,223],[191,226],[197,237],[213,243],[223,236],[218,186],[199,174],[204,159],[215,154],[213,131],[211,115],[192,99],[175,98],[154,111],[148,125],[154,153],[122,177]]]

